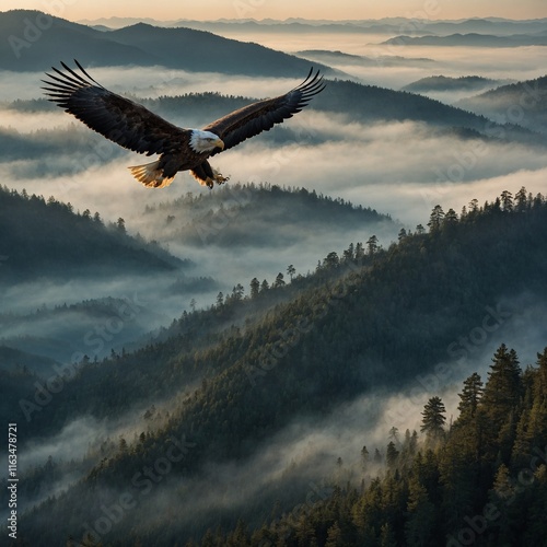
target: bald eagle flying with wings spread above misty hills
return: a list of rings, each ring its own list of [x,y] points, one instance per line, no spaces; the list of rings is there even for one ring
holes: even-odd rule
[[[268,131],[292,117],[324,90],[323,75],[313,67],[306,79],[284,95],[257,101],[219,118],[202,129],[182,128],[163,119],[144,106],[103,88],[74,59],[71,69],[51,67],[42,80],[49,101],[75,116],[88,127],[121,147],[156,161],[129,167],[132,175],[149,188],[168,186],[179,171],[189,171],[203,186],[212,188],[230,177],[213,168],[208,159],[229,150],[245,139]]]

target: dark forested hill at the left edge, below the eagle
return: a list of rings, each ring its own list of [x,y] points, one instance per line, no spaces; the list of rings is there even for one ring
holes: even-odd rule
[[[106,272],[173,271],[185,263],[130,236],[124,219],[106,226],[90,210],[74,212],[54,197],[0,187],[0,281]],[[186,264],[188,266],[188,264]]]

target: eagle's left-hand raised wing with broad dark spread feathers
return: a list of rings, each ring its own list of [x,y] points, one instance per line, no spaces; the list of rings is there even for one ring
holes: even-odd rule
[[[188,142],[188,131],[170,124],[143,106],[108,91],[91,78],[74,59],[83,75],[61,62],[66,72],[53,67],[46,95],[91,129],[133,152],[161,154]],[[84,78],[85,77],[85,78]]]

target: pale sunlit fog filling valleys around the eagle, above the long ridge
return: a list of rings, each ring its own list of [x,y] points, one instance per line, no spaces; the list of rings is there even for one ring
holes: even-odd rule
[[[370,62],[363,66],[356,62],[348,65],[342,59],[335,68],[363,83],[393,89],[433,74],[477,74],[512,80],[537,78],[543,75],[537,67],[546,66],[547,60],[547,48],[540,47],[386,46],[379,45],[386,36],[358,34],[264,33],[259,36],[240,34],[230,37],[258,42],[289,53],[330,49],[377,59],[377,63],[372,66]],[[398,59],[395,63],[382,62],[383,58],[393,60],[394,56]],[[431,61],[423,62],[423,59]],[[58,59],[51,59],[51,62],[56,65]],[[96,68],[93,69],[93,75],[113,91],[130,93],[136,97],[202,91],[261,97],[282,93],[298,83],[293,79],[189,73],[162,67]],[[16,135],[23,143],[25,139],[32,139],[38,146],[45,140],[49,144],[56,142],[55,139],[62,131],[74,131],[74,139],[83,148],[88,147],[91,155],[94,154],[91,161],[90,154],[74,154],[61,144],[55,149],[55,153],[36,153],[34,158],[24,160],[10,155],[4,155],[2,160],[0,151],[0,177],[10,188],[26,188],[30,194],[43,195],[46,199],[55,196],[58,200],[70,201],[75,210],[98,211],[106,222],[115,222],[121,217],[129,233],[139,232],[148,238],[156,238],[159,231],[150,218],[143,214],[147,205],[175,199],[187,193],[207,196],[217,191],[200,187],[188,173],[179,173],[168,188],[151,190],[142,187],[126,167],[150,161],[146,156],[125,152],[107,142],[101,144],[104,149],[97,155],[94,133],[60,109],[25,113],[10,108],[10,103],[18,98],[42,96],[39,86],[43,73],[3,72],[1,77],[0,129],[4,133]],[[185,125],[183,117],[173,121]],[[209,121],[202,119],[203,125]],[[279,144],[258,136],[214,156],[211,163],[231,176],[229,185],[253,182],[305,187],[388,213],[411,230],[418,223],[426,225],[431,209],[438,203],[445,211],[452,207],[459,213],[462,207],[473,198],[482,203],[504,189],[515,193],[525,186],[533,194],[545,191],[547,159],[543,149],[509,140],[486,142],[474,138],[462,139],[426,124],[408,120],[364,124],[349,116],[328,115],[313,109],[305,109],[286,125],[294,130],[298,140]],[[316,137],[319,143],[312,144]],[[59,143],[62,143],[62,139],[59,139]],[[88,168],[85,165],[89,165]],[[72,170],[72,166],[78,170]],[[73,171],[75,174],[66,174]],[[230,220],[243,221],[241,218]],[[253,229],[267,231],[268,226]],[[380,243],[387,246],[396,237],[398,228],[396,230],[394,225],[392,229],[377,230]],[[170,249],[196,263],[191,275],[220,278],[223,287],[230,290],[238,282],[247,287],[249,279],[255,276],[271,281],[277,272],[284,272],[289,264],[293,264],[296,271],[306,274],[330,251],[341,253],[349,243],[366,241],[370,235],[334,229],[331,234],[322,237],[303,234],[295,246],[288,245],[275,251],[268,246],[261,249],[249,247],[238,249],[235,255],[233,249],[216,244],[214,237],[201,246],[170,242]],[[221,269],[219,264],[222,264]],[[98,298],[102,286],[97,283],[74,290],[73,286],[63,288],[61,284],[55,290],[49,288],[34,292],[25,286],[25,294],[35,294],[37,307],[44,302],[62,303],[55,299],[65,289],[68,292],[63,301],[77,302]],[[11,288],[3,295],[3,305],[8,309],[16,306],[22,290]],[[196,296],[198,306],[212,303],[214,293],[211,291]],[[46,300],[48,295],[51,299]],[[28,299],[22,300],[27,302]],[[189,300],[189,295],[181,296],[176,306],[165,309],[167,315],[178,315],[179,310],[188,307]]]

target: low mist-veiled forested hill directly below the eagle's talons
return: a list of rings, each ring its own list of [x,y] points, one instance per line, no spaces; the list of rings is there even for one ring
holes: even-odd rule
[[[148,206],[144,224],[162,242],[213,244],[225,248],[283,248],[344,233],[396,233],[397,223],[344,199],[269,184],[232,183],[210,195],[188,193]],[[143,226],[143,231],[147,228]]]

